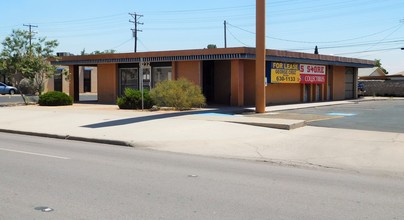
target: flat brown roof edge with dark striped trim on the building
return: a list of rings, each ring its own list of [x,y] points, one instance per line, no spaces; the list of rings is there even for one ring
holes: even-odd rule
[[[197,60],[255,59],[255,48],[216,48],[197,50],[152,51],[137,53],[96,54],[62,56],[53,60],[54,65],[97,65],[103,63],[172,62]],[[310,54],[283,50],[267,50],[267,61],[336,65],[350,67],[373,67],[374,61],[322,54]]]

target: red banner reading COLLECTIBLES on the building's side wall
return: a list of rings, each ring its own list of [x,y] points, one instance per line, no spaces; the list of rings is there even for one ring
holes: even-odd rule
[[[300,64],[300,83],[324,84],[326,67],[311,64]]]

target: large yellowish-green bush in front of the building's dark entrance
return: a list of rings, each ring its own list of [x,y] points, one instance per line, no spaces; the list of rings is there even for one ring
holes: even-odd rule
[[[206,105],[201,88],[186,79],[158,83],[150,92],[150,96],[158,106],[177,110]]]

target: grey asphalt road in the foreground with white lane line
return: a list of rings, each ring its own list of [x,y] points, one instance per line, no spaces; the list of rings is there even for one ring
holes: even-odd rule
[[[0,219],[404,219],[398,178],[2,133],[0,140]]]

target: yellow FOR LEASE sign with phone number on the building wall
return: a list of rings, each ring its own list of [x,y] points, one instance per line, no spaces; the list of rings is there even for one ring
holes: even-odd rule
[[[271,63],[271,83],[299,83],[300,69],[296,63]]]

